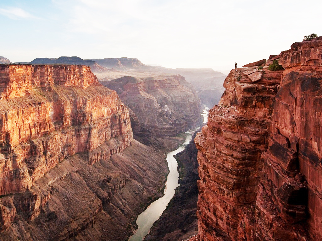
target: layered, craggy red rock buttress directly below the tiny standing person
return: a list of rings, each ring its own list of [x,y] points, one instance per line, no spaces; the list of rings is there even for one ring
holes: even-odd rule
[[[199,240],[238,239],[239,213],[256,201],[267,124],[281,72],[232,70],[226,91],[195,138],[199,150]],[[255,77],[255,79],[254,79]]]

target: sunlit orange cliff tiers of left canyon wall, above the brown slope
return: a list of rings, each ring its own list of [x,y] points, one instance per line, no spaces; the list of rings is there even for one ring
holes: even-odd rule
[[[24,192],[65,156],[122,139],[93,164],[132,141],[127,108],[87,66],[1,65],[0,82],[0,195]]]

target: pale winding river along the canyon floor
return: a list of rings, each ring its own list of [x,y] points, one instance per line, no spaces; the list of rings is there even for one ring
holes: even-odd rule
[[[207,122],[209,108],[205,107],[203,116],[204,116],[204,123]],[[143,211],[137,217],[137,226],[138,229],[136,232],[128,239],[128,241],[142,241],[144,237],[149,233],[153,223],[158,220],[163,213],[163,211],[168,206],[169,201],[175,195],[175,188],[179,186],[179,173],[178,173],[178,163],[173,156],[175,154],[183,151],[185,146],[188,145],[192,139],[192,135],[199,127],[188,130],[185,132],[186,139],[185,142],[178,147],[178,149],[168,152],[166,154],[166,160],[169,166],[169,174],[166,182],[166,189],[164,191],[164,196],[159,198],[158,200],[154,201],[147,207],[145,211]]]

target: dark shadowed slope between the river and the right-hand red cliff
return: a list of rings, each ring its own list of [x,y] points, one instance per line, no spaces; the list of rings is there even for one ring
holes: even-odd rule
[[[145,240],[182,241],[197,233],[197,180],[199,176],[198,150],[194,144],[194,138],[200,130],[201,128],[195,131],[185,149],[174,156],[178,162],[180,186],[175,189],[174,197]]]

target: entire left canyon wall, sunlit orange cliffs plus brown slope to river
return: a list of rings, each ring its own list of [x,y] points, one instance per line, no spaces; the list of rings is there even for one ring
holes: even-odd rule
[[[79,65],[0,65],[0,91],[0,240],[127,240],[167,167],[117,93]]]

